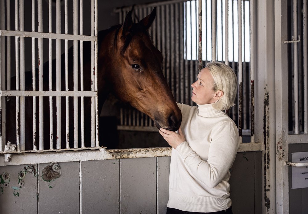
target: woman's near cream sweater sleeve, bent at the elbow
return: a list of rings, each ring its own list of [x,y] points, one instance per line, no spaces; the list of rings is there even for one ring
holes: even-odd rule
[[[238,131],[235,124],[225,121],[213,127],[207,161],[202,160],[188,145],[182,142],[176,150],[185,164],[202,183],[216,187],[232,166],[238,149]]]

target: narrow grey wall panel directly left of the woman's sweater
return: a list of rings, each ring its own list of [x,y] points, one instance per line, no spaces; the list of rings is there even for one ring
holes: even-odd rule
[[[171,157],[157,157],[158,213],[166,213],[169,199],[169,171]]]

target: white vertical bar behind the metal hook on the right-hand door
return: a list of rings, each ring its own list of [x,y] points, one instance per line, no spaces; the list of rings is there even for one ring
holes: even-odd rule
[[[293,37],[298,38],[297,30],[297,0],[293,2]],[[294,134],[298,134],[298,43],[294,42]]]

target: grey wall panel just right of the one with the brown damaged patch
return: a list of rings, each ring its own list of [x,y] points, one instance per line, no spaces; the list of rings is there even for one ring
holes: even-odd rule
[[[120,213],[120,160],[84,161],[82,213]]]

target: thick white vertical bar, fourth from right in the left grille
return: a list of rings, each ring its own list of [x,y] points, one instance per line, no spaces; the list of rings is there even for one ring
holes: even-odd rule
[[[78,4],[73,1],[73,34],[78,35]],[[78,91],[78,41],[73,41],[74,47],[74,91]],[[74,148],[78,148],[78,97],[74,96]]]

